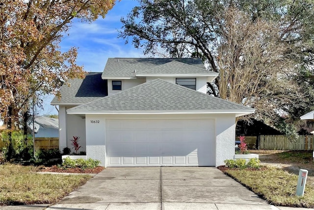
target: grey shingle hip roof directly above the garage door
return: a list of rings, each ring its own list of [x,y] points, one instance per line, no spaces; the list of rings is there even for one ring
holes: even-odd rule
[[[154,79],[115,95],[68,109],[68,114],[86,113],[254,113],[255,109]]]

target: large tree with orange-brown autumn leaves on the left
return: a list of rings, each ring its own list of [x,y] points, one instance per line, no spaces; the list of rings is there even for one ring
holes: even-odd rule
[[[92,22],[115,0],[0,1],[0,119],[19,123],[32,100],[58,94],[64,81],[83,78],[77,50],[59,43],[75,19]]]

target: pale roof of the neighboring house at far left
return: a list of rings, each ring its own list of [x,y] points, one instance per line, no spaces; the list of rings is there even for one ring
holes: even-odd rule
[[[29,119],[27,127],[33,130],[33,121]],[[51,117],[35,116],[34,118],[34,131],[38,132],[40,127],[43,129],[59,129],[59,120]]]

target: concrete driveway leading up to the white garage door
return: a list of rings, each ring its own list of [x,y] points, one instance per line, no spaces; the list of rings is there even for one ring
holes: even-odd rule
[[[278,210],[213,167],[106,168],[49,210]]]

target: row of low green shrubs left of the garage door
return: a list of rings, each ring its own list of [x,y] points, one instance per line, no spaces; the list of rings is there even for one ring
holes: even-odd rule
[[[86,169],[86,168],[96,168],[99,165],[100,161],[95,160],[92,158],[88,159],[71,159],[70,157],[66,157],[63,159],[62,162],[62,167],[65,168],[81,168],[81,169]]]

